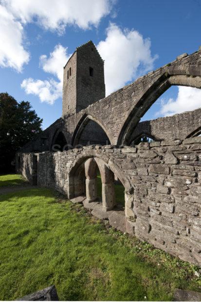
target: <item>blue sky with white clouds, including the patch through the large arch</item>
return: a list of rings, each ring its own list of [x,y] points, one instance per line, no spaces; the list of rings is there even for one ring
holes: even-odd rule
[[[30,101],[45,129],[61,116],[62,64],[77,46],[98,47],[111,93],[198,50],[201,0],[0,0],[0,23],[0,92]],[[171,87],[142,120],[199,102],[200,90]]]

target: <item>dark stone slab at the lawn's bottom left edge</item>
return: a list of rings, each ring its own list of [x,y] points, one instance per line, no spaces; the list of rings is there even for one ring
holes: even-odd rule
[[[16,301],[59,301],[55,285],[51,285],[42,290],[24,296]]]

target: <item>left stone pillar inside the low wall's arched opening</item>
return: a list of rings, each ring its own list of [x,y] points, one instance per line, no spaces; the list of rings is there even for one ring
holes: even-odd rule
[[[97,164],[93,158],[85,162],[86,197],[89,202],[97,199]]]

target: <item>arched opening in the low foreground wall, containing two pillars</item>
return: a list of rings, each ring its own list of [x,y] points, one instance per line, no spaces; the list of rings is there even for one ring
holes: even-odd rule
[[[100,158],[88,158],[74,170],[69,198],[85,196],[85,203],[88,203],[89,208],[90,204],[95,202],[100,204],[103,211],[124,210],[124,186],[118,178],[115,182],[114,173]]]

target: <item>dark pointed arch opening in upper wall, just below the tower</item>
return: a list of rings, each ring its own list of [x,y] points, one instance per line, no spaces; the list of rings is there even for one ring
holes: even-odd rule
[[[73,145],[110,145],[110,139],[103,128],[91,119],[86,119],[78,130]]]

